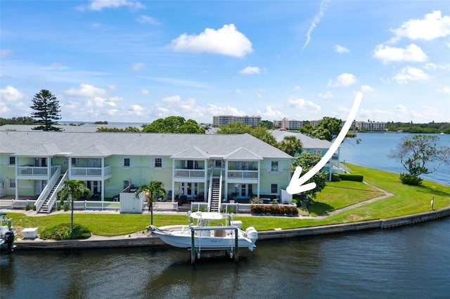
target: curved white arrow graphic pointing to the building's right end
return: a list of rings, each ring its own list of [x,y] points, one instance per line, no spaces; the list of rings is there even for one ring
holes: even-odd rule
[[[362,93],[356,93],[356,97],[354,98],[353,107],[350,110],[349,116],[347,117],[347,121],[345,121],[344,126],[342,126],[341,131],[339,132],[338,137],[336,137],[333,144],[330,146],[326,154],[323,155],[321,161],[317,163],[313,168],[311,168],[307,173],[302,175],[302,167],[297,166],[294,171],[293,177],[290,179],[289,185],[286,188],[286,191],[289,194],[298,194],[302,193],[316,187],[315,182],[310,182],[309,184],[303,185],[307,180],[312,178],[316,173],[321,171],[323,166],[331,159],[333,154],[338,150],[338,147],[344,141],[345,135],[349,131],[350,126],[354,121],[354,117],[356,117],[356,112],[358,112],[359,104],[361,104],[361,100],[363,98]],[[300,176],[302,175],[302,176]]]

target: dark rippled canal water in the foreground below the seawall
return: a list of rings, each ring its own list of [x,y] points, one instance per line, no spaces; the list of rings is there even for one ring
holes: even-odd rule
[[[176,248],[1,255],[1,298],[447,298],[450,218],[259,241],[239,262]]]

